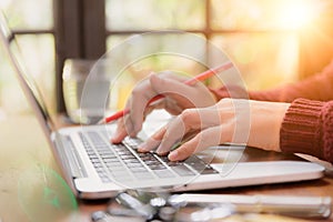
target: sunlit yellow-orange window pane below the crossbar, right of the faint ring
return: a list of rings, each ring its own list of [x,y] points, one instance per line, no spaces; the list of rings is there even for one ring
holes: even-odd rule
[[[299,39],[293,33],[232,33],[212,38],[235,62],[250,90],[297,79]]]

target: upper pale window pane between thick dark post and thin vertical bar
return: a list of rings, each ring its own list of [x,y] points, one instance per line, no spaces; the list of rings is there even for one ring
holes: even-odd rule
[[[202,0],[107,0],[109,31],[203,29]]]

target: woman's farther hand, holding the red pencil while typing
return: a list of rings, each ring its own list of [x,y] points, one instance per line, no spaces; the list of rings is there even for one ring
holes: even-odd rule
[[[111,142],[119,143],[127,135],[135,137],[142,128],[145,115],[153,109],[165,109],[171,114],[180,114],[185,109],[210,107],[216,102],[213,93],[203,83],[184,84],[188,79],[172,72],[161,72],[151,74],[137,84],[125,105],[130,113],[118,121]],[[148,102],[158,94],[164,98],[148,105]]]

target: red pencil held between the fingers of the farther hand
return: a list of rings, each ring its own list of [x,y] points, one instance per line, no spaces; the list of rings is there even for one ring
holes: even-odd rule
[[[198,75],[195,75],[193,79],[190,79],[190,80],[186,80],[184,81],[185,84],[194,84],[195,82],[198,81],[204,81],[209,78],[211,78],[212,75],[219,73],[219,72],[222,72],[222,71],[225,71],[225,70],[229,70],[230,68],[232,68],[233,64],[232,62],[226,62],[226,63],[223,63],[214,69],[210,69],[210,70],[206,70]],[[160,100],[164,98],[164,95],[162,94],[158,94],[157,97],[152,98],[149,102],[148,102],[148,105],[157,100]],[[118,120],[119,118],[128,114],[130,112],[129,109],[124,109],[124,110],[120,110],[118,112],[115,112],[114,114],[110,115],[110,117],[107,117],[104,120],[101,120],[99,123],[108,123],[108,122],[112,122],[114,120]]]

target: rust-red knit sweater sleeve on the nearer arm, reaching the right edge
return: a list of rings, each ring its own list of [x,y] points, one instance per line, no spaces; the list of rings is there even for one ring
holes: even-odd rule
[[[282,152],[305,153],[333,163],[333,101],[296,99],[280,131]]]

